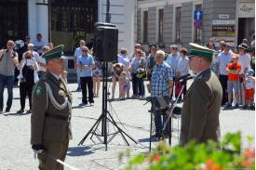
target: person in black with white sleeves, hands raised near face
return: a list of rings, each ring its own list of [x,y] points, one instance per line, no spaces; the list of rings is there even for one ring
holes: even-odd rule
[[[26,96],[29,97],[30,110],[32,108],[32,89],[33,85],[39,80],[37,70],[38,64],[34,59],[33,52],[27,51],[24,54],[24,58],[20,61],[18,66],[20,70],[19,80],[20,80],[20,111],[17,113],[23,113],[25,109]]]

